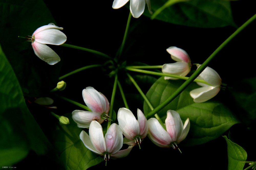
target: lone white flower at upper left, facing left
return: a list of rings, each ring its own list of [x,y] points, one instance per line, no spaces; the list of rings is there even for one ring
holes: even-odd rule
[[[60,30],[63,30],[63,28],[49,23],[36,29],[32,36],[28,38],[28,41],[32,42],[31,45],[35,54],[50,65],[58,63],[60,57],[46,44],[61,45],[65,43],[67,37]]]

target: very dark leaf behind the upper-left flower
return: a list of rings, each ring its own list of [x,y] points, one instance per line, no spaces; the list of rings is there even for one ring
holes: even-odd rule
[[[51,22],[55,23],[42,0],[0,0],[0,43],[26,96],[41,96],[56,87],[61,64],[48,65],[34,54],[31,42],[18,36],[32,35]],[[51,48],[60,55],[60,47]]]

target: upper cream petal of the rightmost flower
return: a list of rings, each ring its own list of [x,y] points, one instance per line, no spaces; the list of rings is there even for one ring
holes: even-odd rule
[[[198,68],[200,66],[201,65],[197,65]],[[221,85],[220,75],[211,67],[206,67],[199,76],[214,87],[218,87]]]

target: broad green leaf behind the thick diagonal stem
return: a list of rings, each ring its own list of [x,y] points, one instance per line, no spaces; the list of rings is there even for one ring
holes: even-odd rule
[[[155,108],[176,91],[182,83],[184,80],[164,80],[164,77],[161,77],[148,90],[146,96]],[[189,92],[199,87],[193,82],[158,113],[163,122],[165,122],[168,110],[177,111],[183,121],[189,118],[190,130],[186,139],[182,141],[182,144],[187,146],[199,145],[216,139],[232,125],[239,123],[223,103],[213,99],[195,103]],[[145,101],[143,109],[145,115],[151,111]]]

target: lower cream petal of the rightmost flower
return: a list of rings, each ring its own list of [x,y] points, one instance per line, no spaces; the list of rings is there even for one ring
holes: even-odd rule
[[[194,102],[201,103],[213,98],[219,93],[219,91],[220,87],[200,87],[190,91],[190,96],[194,99]]]

